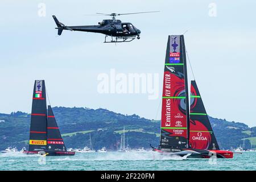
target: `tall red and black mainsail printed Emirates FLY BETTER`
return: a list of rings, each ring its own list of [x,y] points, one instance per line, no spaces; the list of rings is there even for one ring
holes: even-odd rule
[[[186,104],[187,103],[187,104]],[[168,36],[160,147],[188,147],[188,83],[183,35]]]

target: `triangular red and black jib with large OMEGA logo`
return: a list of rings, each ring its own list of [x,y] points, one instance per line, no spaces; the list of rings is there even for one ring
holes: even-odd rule
[[[189,145],[195,149],[219,150],[196,81],[191,81]]]

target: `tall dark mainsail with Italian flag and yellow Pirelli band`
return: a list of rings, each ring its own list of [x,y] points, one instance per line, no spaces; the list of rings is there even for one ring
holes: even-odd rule
[[[36,80],[33,91],[28,151],[46,150],[47,111],[44,80]]]

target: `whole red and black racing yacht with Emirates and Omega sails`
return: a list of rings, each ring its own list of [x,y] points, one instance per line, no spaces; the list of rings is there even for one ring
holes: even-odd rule
[[[151,146],[152,147],[152,146]],[[233,158],[218,147],[196,81],[189,93],[183,35],[168,36],[164,65],[160,144],[153,151],[190,158]]]

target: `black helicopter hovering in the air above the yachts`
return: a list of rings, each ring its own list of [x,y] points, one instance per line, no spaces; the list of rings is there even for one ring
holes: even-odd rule
[[[147,11],[147,12],[139,12],[139,13],[154,13],[159,11]],[[60,23],[57,20],[55,15],[52,15],[55,23],[57,24],[58,35],[61,35],[63,30],[70,31],[84,31],[84,32],[95,32],[105,34],[105,42],[104,43],[118,43],[118,42],[131,42],[137,36],[137,39],[140,39],[141,31],[133,26],[131,23],[122,23],[121,20],[115,19],[116,16],[119,15],[129,15],[129,14],[139,14],[139,13],[125,13],[125,14],[103,14],[97,13],[97,15],[108,15],[112,16],[112,19],[105,19],[102,22],[99,22],[99,25],[92,26],[65,26],[65,24]],[[111,40],[107,41],[106,38],[111,36]],[[115,38],[113,40],[113,37]]]

